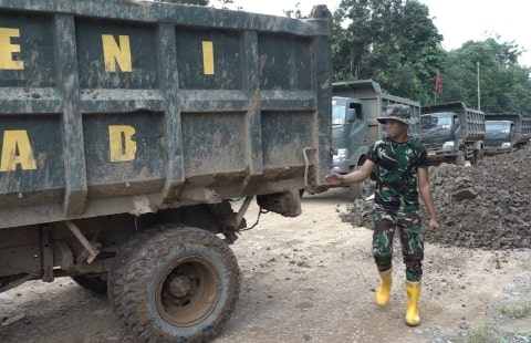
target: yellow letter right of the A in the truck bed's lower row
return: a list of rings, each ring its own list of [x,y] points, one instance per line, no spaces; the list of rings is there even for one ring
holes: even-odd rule
[[[133,160],[136,157],[135,128],[129,125],[108,126],[108,148],[111,162]]]

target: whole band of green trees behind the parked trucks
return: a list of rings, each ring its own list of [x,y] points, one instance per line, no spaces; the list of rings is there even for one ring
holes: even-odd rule
[[[385,92],[423,104],[462,101],[531,115],[530,69],[518,63],[522,50],[513,42],[489,38],[445,51],[429,9],[416,0],[342,0],[333,25],[336,81],[372,77]]]

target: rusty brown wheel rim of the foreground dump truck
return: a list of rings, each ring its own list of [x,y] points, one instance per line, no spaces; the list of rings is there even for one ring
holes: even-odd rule
[[[166,269],[158,283],[158,312],[171,325],[197,324],[218,304],[220,288],[215,269],[204,259],[180,259]]]

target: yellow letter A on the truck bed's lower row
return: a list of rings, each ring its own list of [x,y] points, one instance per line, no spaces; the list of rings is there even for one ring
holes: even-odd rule
[[[3,132],[0,172],[14,172],[17,165],[20,165],[22,170],[37,169],[35,158],[25,129]]]

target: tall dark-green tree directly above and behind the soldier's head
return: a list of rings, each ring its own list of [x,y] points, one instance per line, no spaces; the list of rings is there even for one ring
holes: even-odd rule
[[[375,79],[394,95],[421,102],[433,97],[434,77],[445,52],[425,4],[343,0],[334,13],[333,29],[336,80]]]

